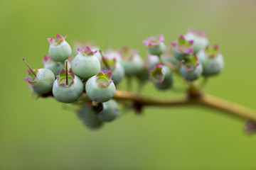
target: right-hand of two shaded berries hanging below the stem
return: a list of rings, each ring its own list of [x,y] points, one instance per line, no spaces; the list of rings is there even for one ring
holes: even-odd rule
[[[110,100],[107,102],[102,103],[103,109],[97,116],[103,122],[111,122],[119,115],[118,104],[114,100]]]

